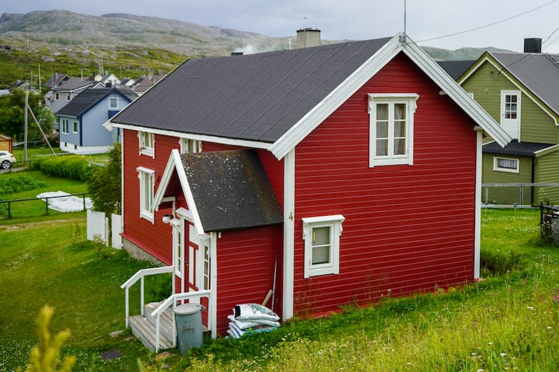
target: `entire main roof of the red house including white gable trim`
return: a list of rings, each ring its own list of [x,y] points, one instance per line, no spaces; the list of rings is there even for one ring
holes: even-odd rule
[[[404,40],[404,42],[402,42]],[[319,126],[396,54],[405,53],[500,144],[510,137],[406,36],[244,56],[190,59],[112,124],[251,142],[277,158]]]

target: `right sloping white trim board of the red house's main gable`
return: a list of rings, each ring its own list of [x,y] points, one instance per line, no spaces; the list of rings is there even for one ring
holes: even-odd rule
[[[429,55],[410,41],[404,48],[404,53],[415,62],[423,73],[426,73],[454,102],[468,114],[477,125],[481,126],[501,146],[511,142],[512,138],[488,114],[474,98],[460,87],[452,77],[443,70]]]

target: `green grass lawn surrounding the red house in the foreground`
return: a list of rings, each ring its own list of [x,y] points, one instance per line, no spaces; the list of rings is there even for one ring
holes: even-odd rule
[[[39,308],[55,307],[53,332],[68,327],[64,352],[76,370],[158,369],[124,327],[119,285],[145,262],[96,252],[83,218],[0,225],[0,370],[23,365]],[[114,251],[112,251],[114,252]],[[539,211],[482,211],[486,281],[329,318],[293,320],[268,334],[206,340],[166,359],[170,371],[553,371],[559,365],[559,249],[539,241]],[[137,296],[137,293],[135,294]],[[134,300],[131,304],[136,304]],[[103,362],[116,348],[124,357]]]

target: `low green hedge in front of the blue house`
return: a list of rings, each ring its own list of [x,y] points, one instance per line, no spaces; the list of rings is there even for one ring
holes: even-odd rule
[[[89,177],[89,163],[79,155],[50,156],[39,158],[31,163],[32,168],[42,170],[45,174],[68,179],[85,181]]]

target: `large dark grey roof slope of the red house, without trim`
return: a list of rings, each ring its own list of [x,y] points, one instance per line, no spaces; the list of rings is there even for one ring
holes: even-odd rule
[[[191,59],[111,121],[272,143],[389,40]]]

